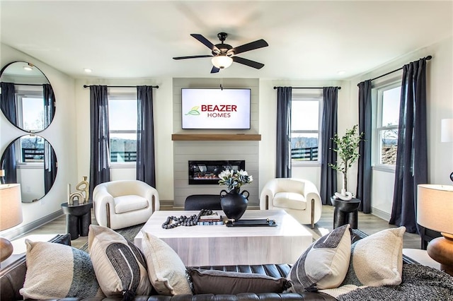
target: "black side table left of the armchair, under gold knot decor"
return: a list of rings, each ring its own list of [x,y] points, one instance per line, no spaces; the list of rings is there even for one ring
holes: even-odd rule
[[[88,236],[92,207],[91,201],[81,204],[74,201],[73,205],[62,203],[63,213],[66,214],[66,232],[71,235],[71,240],[76,240],[79,236]]]

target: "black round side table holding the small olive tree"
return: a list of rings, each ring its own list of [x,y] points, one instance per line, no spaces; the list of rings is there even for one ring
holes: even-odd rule
[[[333,211],[333,229],[346,224],[350,224],[352,229],[357,229],[357,210],[360,206],[360,199],[343,201],[342,199],[333,199],[331,197],[331,202],[335,206],[335,211]]]

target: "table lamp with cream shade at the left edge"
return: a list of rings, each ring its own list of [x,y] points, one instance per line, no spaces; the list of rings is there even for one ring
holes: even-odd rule
[[[0,184],[0,231],[22,223],[21,184]],[[0,262],[13,254],[13,245],[0,237]]]

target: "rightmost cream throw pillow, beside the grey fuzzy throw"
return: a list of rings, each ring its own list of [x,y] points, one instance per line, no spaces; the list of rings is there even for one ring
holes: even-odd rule
[[[379,231],[351,247],[351,260],[343,285],[399,285],[403,272],[405,227]]]

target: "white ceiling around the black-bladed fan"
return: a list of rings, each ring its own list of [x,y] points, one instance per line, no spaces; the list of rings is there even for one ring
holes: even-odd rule
[[[74,78],[349,78],[453,33],[452,1],[4,1],[1,42]],[[210,74],[213,44],[226,32],[239,54]],[[1,64],[8,62],[2,61]],[[39,66],[38,66],[39,67]],[[91,75],[84,68],[93,69]],[[338,75],[338,71],[345,71]]]

